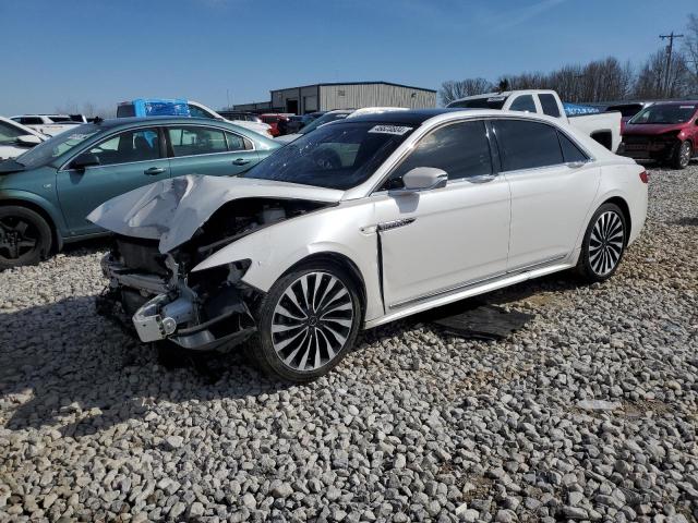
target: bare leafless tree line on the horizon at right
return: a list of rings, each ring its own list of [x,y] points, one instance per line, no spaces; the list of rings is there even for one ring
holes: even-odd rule
[[[565,101],[681,98],[698,95],[698,15],[689,14],[682,44],[657,50],[639,66],[614,57],[567,64],[550,73],[525,72],[486,78],[449,80],[438,92],[442,104],[496,90],[554,89]]]

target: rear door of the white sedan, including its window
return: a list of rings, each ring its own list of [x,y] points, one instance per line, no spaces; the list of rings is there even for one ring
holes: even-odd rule
[[[577,246],[600,169],[554,125],[516,119],[492,125],[512,187],[507,270],[562,260]]]

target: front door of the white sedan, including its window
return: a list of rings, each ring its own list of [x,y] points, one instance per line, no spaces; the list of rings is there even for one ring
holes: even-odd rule
[[[399,194],[416,167],[443,169],[445,187]],[[506,271],[509,184],[496,174],[483,121],[424,136],[375,193],[386,312],[416,305]]]

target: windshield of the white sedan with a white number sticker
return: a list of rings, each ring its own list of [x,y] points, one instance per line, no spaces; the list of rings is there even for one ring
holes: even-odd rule
[[[346,191],[366,181],[412,129],[375,122],[325,125],[278,149],[244,177]]]

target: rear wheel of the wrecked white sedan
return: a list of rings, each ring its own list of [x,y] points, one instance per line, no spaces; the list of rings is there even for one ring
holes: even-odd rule
[[[603,204],[585,232],[577,273],[589,283],[611,278],[621,265],[627,240],[625,215],[617,205]]]

